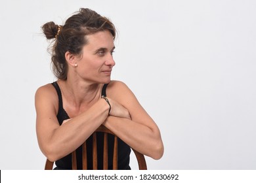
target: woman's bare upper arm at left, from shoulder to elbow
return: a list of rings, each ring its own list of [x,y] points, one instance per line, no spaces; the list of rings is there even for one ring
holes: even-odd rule
[[[39,88],[35,93],[36,132],[37,141],[44,154],[44,147],[49,144],[54,129],[60,126],[56,118],[57,108],[58,97],[53,86],[47,84]]]

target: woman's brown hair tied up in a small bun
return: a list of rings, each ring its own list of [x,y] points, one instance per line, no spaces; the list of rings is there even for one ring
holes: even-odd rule
[[[67,79],[68,64],[65,53],[80,55],[82,48],[87,44],[86,35],[108,30],[116,37],[114,24],[108,18],[100,16],[89,8],[80,8],[66,23],[56,25],[48,22],[42,26],[43,33],[47,39],[55,39],[51,50],[54,75],[62,80]]]

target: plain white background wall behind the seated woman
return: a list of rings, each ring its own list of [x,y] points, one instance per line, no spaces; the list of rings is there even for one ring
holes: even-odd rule
[[[80,7],[114,22],[112,79],[160,127],[165,154],[148,169],[256,169],[253,0],[1,1],[0,169],[44,168],[34,94],[56,78],[41,25]]]

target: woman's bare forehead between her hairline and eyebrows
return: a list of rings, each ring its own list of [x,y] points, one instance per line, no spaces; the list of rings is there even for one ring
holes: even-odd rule
[[[88,49],[98,49],[98,48],[107,48],[112,49],[114,47],[114,38],[110,31],[99,31],[92,35],[87,35],[87,44],[85,48]]]

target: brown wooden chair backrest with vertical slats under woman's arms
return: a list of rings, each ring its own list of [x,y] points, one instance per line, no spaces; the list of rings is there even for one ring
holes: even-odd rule
[[[107,170],[108,169],[108,134],[112,134],[114,135],[114,153],[113,153],[113,169],[116,170],[117,169],[117,136],[112,133],[112,131],[110,131],[109,129],[107,129],[106,127],[104,127],[104,125],[100,125],[100,127],[98,127],[98,129],[96,129],[96,131],[93,133],[93,169],[96,170],[98,169],[97,167],[97,144],[96,144],[96,133],[97,132],[103,132],[104,133],[104,148],[103,148],[103,169]],[[86,141],[82,144],[82,149],[83,149],[83,169],[87,170],[87,149],[86,149]],[[144,158],[143,154],[140,154],[139,152],[137,152],[136,150],[134,150],[132,148],[133,152],[135,153],[135,156],[137,158],[138,161],[138,165],[139,165],[139,169],[140,170],[146,170],[146,160]],[[85,153],[84,153],[85,152]],[[77,163],[76,163],[76,154],[75,151],[72,152],[72,169],[76,170],[77,169]],[[45,170],[52,170],[53,169],[53,163],[49,161],[49,159],[47,159],[46,163],[45,163]]]

